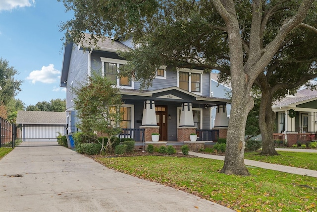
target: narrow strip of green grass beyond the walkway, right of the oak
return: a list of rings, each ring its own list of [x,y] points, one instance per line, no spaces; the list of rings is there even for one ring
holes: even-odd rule
[[[260,152],[245,152],[245,159],[285,166],[317,170],[317,153],[278,151],[280,155],[264,156]]]

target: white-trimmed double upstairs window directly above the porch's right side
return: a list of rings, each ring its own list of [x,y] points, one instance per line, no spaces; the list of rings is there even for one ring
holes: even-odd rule
[[[178,74],[178,87],[190,92],[202,93],[203,71],[180,70]]]

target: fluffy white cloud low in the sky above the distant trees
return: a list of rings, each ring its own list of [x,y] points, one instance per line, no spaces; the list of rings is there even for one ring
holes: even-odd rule
[[[33,84],[36,81],[43,83],[54,83],[60,78],[60,71],[54,69],[54,65],[43,66],[41,70],[32,71],[29,76],[26,77],[27,80],[31,80]]]

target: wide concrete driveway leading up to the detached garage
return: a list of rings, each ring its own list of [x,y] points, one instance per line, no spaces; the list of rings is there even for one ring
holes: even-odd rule
[[[1,212],[232,212],[62,146],[17,147],[3,157],[0,200]]]

